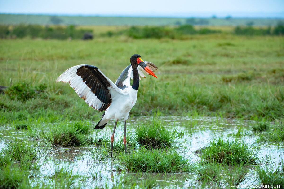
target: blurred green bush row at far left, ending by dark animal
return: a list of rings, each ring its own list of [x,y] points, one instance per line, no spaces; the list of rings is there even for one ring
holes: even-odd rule
[[[0,25],[1,38],[43,38],[43,39],[82,39],[85,33],[92,33],[90,29],[77,29],[74,25],[40,26],[40,25]]]

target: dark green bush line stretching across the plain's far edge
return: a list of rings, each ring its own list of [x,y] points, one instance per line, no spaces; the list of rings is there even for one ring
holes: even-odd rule
[[[64,26],[40,26],[40,25],[0,25],[1,38],[43,38],[43,39],[82,39],[83,36],[91,39],[93,37],[91,29],[77,29],[74,25]],[[101,37],[112,37],[126,35],[134,39],[143,38],[170,38],[186,39],[187,35],[206,35],[211,33],[222,33],[220,30],[209,29],[206,27],[196,29],[191,24],[179,25],[177,27],[164,26],[132,26],[125,30],[108,31],[102,33]],[[279,23],[275,27],[257,28],[252,26],[237,26],[233,33],[236,35],[284,35],[284,25]],[[89,38],[90,37],[90,38]],[[87,39],[87,38],[85,38]]]

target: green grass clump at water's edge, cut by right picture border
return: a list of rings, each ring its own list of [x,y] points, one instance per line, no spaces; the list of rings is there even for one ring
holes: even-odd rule
[[[275,122],[274,127],[271,127],[269,131],[262,132],[258,140],[270,142],[284,142],[283,120]]]

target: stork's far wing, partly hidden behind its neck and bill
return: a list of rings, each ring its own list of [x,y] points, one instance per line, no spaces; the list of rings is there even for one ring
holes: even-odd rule
[[[144,61],[145,64],[151,69],[151,71],[155,72],[155,70],[158,70],[158,67],[153,64],[152,62],[147,62]],[[143,78],[146,78],[144,73],[146,73],[147,75],[150,75],[147,71],[145,71],[142,67],[137,66],[137,71],[139,73],[139,75]],[[143,73],[144,72],[144,73]],[[141,79],[139,76],[139,79]],[[117,78],[115,85],[118,86],[118,88],[120,89],[124,89],[126,87],[130,87],[130,78],[133,79],[133,69],[131,64],[128,65],[120,74],[120,76]]]

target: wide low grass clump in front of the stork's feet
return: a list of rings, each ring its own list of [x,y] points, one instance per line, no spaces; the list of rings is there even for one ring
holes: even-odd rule
[[[153,173],[192,172],[191,163],[173,150],[146,150],[121,157],[121,163],[128,171]]]

